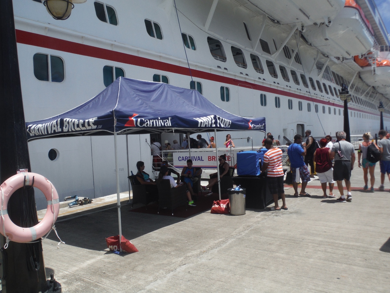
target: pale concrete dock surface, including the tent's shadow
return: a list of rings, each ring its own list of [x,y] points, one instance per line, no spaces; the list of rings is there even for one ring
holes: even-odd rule
[[[293,197],[287,211],[249,209],[243,216],[189,218],[130,212],[122,203],[122,233],[139,252],[109,252],[118,234],[117,209],[60,217],[57,237],[43,241],[46,272],[62,292],[390,292],[390,183],[363,191],[363,172],[352,171],[352,202]],[[339,192],[335,187],[335,195]],[[272,206],[272,205],[270,205]]]

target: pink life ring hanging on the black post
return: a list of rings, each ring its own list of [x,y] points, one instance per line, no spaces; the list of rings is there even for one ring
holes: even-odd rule
[[[26,176],[26,182],[25,181]],[[8,200],[12,193],[19,188],[22,188],[24,184],[29,186],[32,184],[34,177],[34,187],[43,192],[47,200],[47,210],[44,218],[34,227],[23,228],[15,225],[7,213]],[[3,199],[4,198],[4,199]],[[37,173],[20,173],[16,174],[7,180],[0,186],[0,200],[2,201],[2,216],[0,216],[0,233],[9,240],[19,243],[27,243],[41,238],[48,233],[57,220],[58,212],[60,210],[60,200],[58,198],[57,190],[55,190],[53,184]],[[0,207],[1,209],[1,207]],[[3,222],[4,218],[4,222]],[[4,233],[5,231],[5,233]]]

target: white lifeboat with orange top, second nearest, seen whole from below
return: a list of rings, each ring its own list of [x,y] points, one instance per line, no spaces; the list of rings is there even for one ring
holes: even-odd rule
[[[309,43],[332,57],[363,55],[374,45],[374,30],[355,0],[346,0],[331,26],[306,27],[303,35]]]

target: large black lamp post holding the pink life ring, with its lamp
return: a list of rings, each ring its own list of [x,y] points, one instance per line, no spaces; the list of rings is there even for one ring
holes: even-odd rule
[[[47,0],[45,3],[53,17],[59,15],[67,18],[71,13],[69,2],[73,7],[73,3],[85,1]],[[54,8],[58,8],[56,2],[66,2],[66,5],[62,5],[66,11],[57,9],[54,13]],[[0,109],[3,113],[0,115],[0,180],[4,182],[19,169],[31,172],[12,0],[0,1]],[[28,228],[38,224],[33,188],[18,189],[3,209],[7,209],[12,222],[20,227]],[[1,236],[0,245],[3,293],[61,292],[60,284],[52,275],[51,280],[46,280],[41,239],[35,243],[10,241],[8,247],[4,248],[5,238]]]

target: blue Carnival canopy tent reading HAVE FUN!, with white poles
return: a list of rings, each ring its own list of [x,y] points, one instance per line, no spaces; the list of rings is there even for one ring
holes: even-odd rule
[[[117,134],[194,133],[211,129],[265,132],[266,121],[264,117],[248,119],[224,111],[194,89],[119,77],[84,104],[51,118],[27,122],[26,129],[28,141],[113,134],[121,236]],[[218,167],[217,172],[219,178]]]

